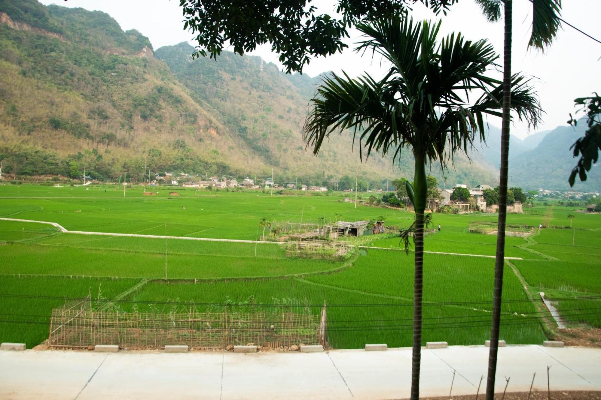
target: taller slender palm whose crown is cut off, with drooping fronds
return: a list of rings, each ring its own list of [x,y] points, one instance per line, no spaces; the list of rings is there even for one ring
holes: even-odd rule
[[[561,0],[530,0],[532,2],[532,32],[528,46],[544,50],[560,28]],[[496,356],[501,325],[501,295],[503,292],[503,267],[505,263],[505,220],[507,219],[507,177],[509,171],[509,123],[511,106],[511,0],[476,0],[490,21],[501,18],[504,10],[505,38],[503,53],[503,107],[501,126],[501,171],[499,174],[499,220],[495,257],[495,286],[493,289],[492,326],[490,328],[489,369],[486,382],[486,399],[495,397]]]

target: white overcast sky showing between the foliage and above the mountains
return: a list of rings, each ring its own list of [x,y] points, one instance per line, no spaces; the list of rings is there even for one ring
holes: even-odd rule
[[[40,0],[43,4],[58,4],[64,7],[83,7],[100,10],[111,15],[124,30],[137,29],[150,39],[154,49],[161,46],[188,41],[194,46],[194,36],[183,30],[182,11],[177,0]],[[563,1],[562,17],[587,34],[601,40],[599,23],[599,0]],[[311,4],[320,13],[335,15],[335,0],[314,0]],[[414,19],[436,19],[421,3],[413,7],[410,15]],[[486,38],[499,54],[503,50],[503,23],[488,22],[474,0],[461,0],[453,5],[447,16],[442,17],[441,33],[462,32],[469,40]],[[573,100],[593,91],[601,92],[601,43],[585,37],[570,26],[563,25],[557,40],[545,50],[528,49],[532,21],[532,4],[529,0],[513,1],[513,59],[512,71],[532,76],[533,85],[546,114],[543,123],[534,131],[527,124],[515,121],[511,133],[525,138],[534,132],[554,129],[566,125],[569,113],[577,111]],[[350,76],[364,72],[380,77],[385,65],[371,55],[361,56],[353,52],[353,43],[359,40],[359,32],[352,30],[346,41],[349,49],[328,58],[315,58],[304,68],[304,73],[316,76],[325,71],[346,71]],[[278,55],[271,52],[269,44],[260,46],[251,53],[273,62],[282,69]],[[499,59],[499,63],[501,60]],[[501,72],[498,72],[501,79]],[[579,114],[581,116],[582,113]],[[500,127],[498,118],[489,118],[489,123]]]

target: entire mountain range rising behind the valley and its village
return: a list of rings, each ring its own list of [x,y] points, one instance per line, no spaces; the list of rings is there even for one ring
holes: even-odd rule
[[[305,151],[302,125],[321,76],[284,74],[257,56],[231,52],[216,61],[192,60],[192,50],[188,43],[153,50],[148,38],[124,32],[100,11],[1,1],[3,171],[77,175],[85,165],[101,177],[127,172],[136,180],[145,166],[258,177],[273,168],[276,181],[300,177],[320,184],[355,174],[380,184],[412,177],[410,151],[394,166],[377,154],[359,165],[359,144],[346,132],[332,137],[318,157]],[[512,168],[525,154],[532,159],[547,151],[553,132],[512,137]],[[472,163],[457,156],[444,174],[432,165],[441,186],[496,185],[500,132],[490,126],[488,135]],[[554,146],[559,151],[561,145]],[[558,185],[567,181],[572,162],[555,172]],[[528,188],[554,182],[514,175]]]

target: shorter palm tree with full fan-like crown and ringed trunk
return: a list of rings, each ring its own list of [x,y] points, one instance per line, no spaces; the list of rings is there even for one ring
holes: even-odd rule
[[[413,357],[411,398],[419,397],[421,308],[423,294],[426,164],[441,167],[459,152],[484,139],[483,116],[501,116],[501,82],[487,73],[498,56],[485,40],[468,41],[451,34],[437,42],[439,23],[386,19],[359,24],[371,37],[358,51],[371,50],[390,64],[381,80],[331,74],[317,88],[304,126],[304,138],[318,154],[326,137],[352,129],[359,137],[359,156],[392,152],[395,159],[410,148],[415,158],[413,186],[407,185],[415,207],[415,277],[413,282]],[[480,97],[475,102],[472,92]],[[528,80],[513,76],[514,109],[520,120],[536,124],[540,106]],[[470,100],[472,100],[470,102]]]

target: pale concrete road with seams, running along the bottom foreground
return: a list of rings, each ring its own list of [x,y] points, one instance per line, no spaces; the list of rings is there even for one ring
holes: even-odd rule
[[[421,394],[476,393],[488,348],[422,351]],[[497,390],[601,390],[601,349],[499,348]],[[391,399],[408,398],[411,349],[234,354],[207,351],[0,352],[2,399]]]

